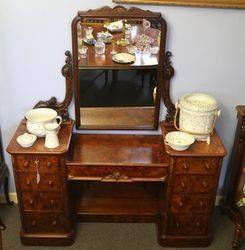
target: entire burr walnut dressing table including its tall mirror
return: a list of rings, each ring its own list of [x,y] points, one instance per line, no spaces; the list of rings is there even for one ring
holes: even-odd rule
[[[111,45],[107,46],[106,55],[96,58],[95,65],[90,64],[90,59],[95,60],[90,45],[86,63],[79,59],[82,31],[78,27],[86,24],[103,28],[105,21],[118,19],[127,19],[132,26],[140,26],[147,19],[152,31],[160,31],[160,51],[153,58],[157,64],[115,64],[109,59]],[[210,145],[196,142],[184,152],[164,145],[162,137],[173,130],[175,111],[169,96],[174,70],[171,53],[165,52],[165,21],[159,13],[104,7],[79,12],[72,23],[72,34],[73,53],[71,56],[66,52],[62,69],[66,78],[64,101],[60,103],[53,97],[35,105],[53,108],[62,115],[60,146],[46,149],[44,139],[38,138],[33,147],[21,148],[16,137],[26,131],[23,120],[7,148],[12,155],[22,243],[70,245],[75,239],[76,222],[150,222],[157,224],[162,246],[208,246],[226,152],[216,132]],[[117,47],[119,51],[124,49]],[[87,134],[74,133],[72,129],[68,114],[72,86],[76,127],[90,129]],[[131,95],[133,98],[128,98]],[[94,134],[91,130],[156,130],[161,97],[167,111],[165,121],[160,123],[163,135]],[[94,113],[99,119],[90,119]],[[101,114],[111,114],[114,119],[110,121],[114,123]],[[147,119],[142,119],[142,115]]]

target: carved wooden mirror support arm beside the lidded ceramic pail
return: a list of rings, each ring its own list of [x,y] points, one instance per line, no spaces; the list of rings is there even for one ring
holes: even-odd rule
[[[164,65],[163,65],[164,84],[163,84],[162,97],[163,97],[163,102],[167,108],[167,114],[165,116],[165,119],[167,121],[173,121],[175,114],[175,106],[170,98],[170,81],[174,76],[174,68],[171,65],[172,62],[170,60],[171,56],[172,53],[170,51],[167,51],[165,54]]]

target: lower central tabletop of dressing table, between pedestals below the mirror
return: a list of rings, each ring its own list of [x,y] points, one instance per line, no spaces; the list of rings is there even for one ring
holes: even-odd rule
[[[160,135],[73,134],[67,165],[168,166]]]

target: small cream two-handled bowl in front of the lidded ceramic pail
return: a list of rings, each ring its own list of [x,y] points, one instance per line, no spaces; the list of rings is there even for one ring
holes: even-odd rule
[[[177,151],[188,149],[194,142],[194,136],[180,131],[170,132],[165,136],[165,144]]]

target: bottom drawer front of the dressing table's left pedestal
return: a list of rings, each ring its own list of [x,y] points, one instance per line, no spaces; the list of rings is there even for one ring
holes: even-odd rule
[[[68,221],[63,213],[25,212],[23,219],[26,233],[68,232]]]

